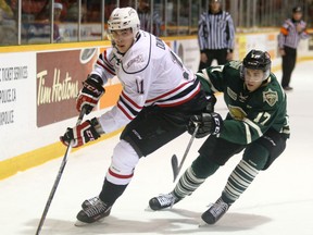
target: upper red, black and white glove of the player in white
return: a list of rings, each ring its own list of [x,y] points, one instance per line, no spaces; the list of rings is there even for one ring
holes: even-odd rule
[[[93,107],[97,106],[99,99],[105,92],[102,87],[103,82],[100,76],[91,74],[83,82],[83,89],[79,91],[76,99],[76,109],[82,111],[83,107],[86,110],[86,114],[89,114]]]

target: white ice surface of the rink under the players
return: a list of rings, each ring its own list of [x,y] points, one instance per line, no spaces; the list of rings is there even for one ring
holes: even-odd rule
[[[190,197],[171,210],[147,211],[151,197],[173,189],[171,157],[180,160],[188,134],[141,159],[133,182],[101,223],[76,227],[83,200],[99,194],[118,136],[70,153],[41,234],[313,234],[313,77],[312,61],[298,63],[288,92],[291,138],[287,149],[215,225],[199,227],[200,217],[216,200],[241,154],[235,156]],[[280,79],[281,72],[276,73]],[[221,98],[221,97],[220,97]],[[218,98],[216,111],[225,106]],[[203,139],[196,139],[184,169],[198,156]],[[0,181],[0,234],[35,234],[62,158]]]

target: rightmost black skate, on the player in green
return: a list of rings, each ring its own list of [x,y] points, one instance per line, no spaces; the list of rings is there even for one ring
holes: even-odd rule
[[[201,218],[205,223],[214,224],[226,213],[228,208],[229,205],[224,202],[222,198],[218,198],[216,202],[201,215]]]

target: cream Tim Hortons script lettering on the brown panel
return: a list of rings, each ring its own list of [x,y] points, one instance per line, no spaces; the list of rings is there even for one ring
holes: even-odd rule
[[[78,81],[72,82],[68,72],[66,72],[64,79],[60,79],[60,70],[54,69],[53,83],[49,83],[49,79],[47,70],[37,74],[37,106],[60,102],[77,97]]]

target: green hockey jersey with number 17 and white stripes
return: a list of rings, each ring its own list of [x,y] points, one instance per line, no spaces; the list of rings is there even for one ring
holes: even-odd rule
[[[241,72],[242,63],[231,61],[225,65],[199,71],[205,91],[223,92],[228,113],[218,137],[247,145],[260,138],[267,129],[290,135],[287,97],[276,76],[270,77],[254,91],[249,91]]]

